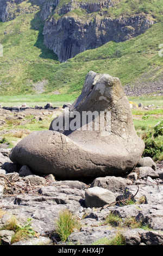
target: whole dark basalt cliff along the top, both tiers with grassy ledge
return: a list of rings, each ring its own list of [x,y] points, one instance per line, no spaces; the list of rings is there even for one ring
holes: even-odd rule
[[[33,8],[23,8],[23,0],[0,1],[0,21],[15,19],[39,8],[44,27],[44,44],[66,62],[78,53],[97,48],[109,41],[125,41],[140,35],[154,20],[145,13],[112,16],[115,1],[30,0]]]

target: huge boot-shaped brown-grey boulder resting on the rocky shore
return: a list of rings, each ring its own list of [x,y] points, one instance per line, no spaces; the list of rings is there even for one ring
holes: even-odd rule
[[[73,105],[48,131],[23,138],[10,160],[26,164],[33,173],[53,173],[61,179],[121,176],[136,166],[144,148],[120,80],[90,71]]]

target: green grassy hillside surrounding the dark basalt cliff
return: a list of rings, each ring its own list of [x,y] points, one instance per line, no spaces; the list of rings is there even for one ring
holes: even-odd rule
[[[60,5],[64,3],[60,2]],[[43,93],[79,94],[90,70],[117,76],[123,86],[134,83],[143,74],[146,74],[147,84],[163,74],[163,57],[158,54],[159,45],[163,44],[163,7],[159,0],[117,1],[117,7],[109,8],[107,15],[117,17],[143,12],[152,15],[156,23],[136,38],[119,43],[110,41],[65,63],[59,63],[56,54],[43,45],[40,8],[30,1],[20,6],[30,8],[31,13],[0,23],[0,44],[3,45],[1,95],[36,94],[40,90]]]

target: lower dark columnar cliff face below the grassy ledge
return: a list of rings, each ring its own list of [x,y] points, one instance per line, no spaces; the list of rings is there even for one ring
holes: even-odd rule
[[[106,42],[120,42],[145,32],[153,24],[144,15],[111,19],[95,17],[83,21],[74,17],[52,19],[43,29],[45,45],[57,53],[59,61],[65,62],[80,52],[99,47]]]

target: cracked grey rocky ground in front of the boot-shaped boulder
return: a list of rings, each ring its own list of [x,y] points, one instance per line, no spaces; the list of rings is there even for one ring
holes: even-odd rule
[[[71,245],[92,245],[104,237],[111,239],[117,231],[123,234],[127,245],[163,244],[162,162],[158,162],[153,168],[136,167],[123,178],[107,176],[87,184],[77,180],[57,181],[51,174],[34,175],[27,166],[19,169],[9,159],[10,150],[1,149],[0,153],[0,227],[14,215],[21,225],[31,218],[35,231],[32,239],[18,241],[12,245],[65,245],[67,241]],[[92,189],[95,190],[93,197],[90,193]],[[107,194],[107,191],[116,200],[129,198],[137,192],[133,198],[135,204],[114,203],[113,206],[102,209],[101,196],[103,192]],[[97,207],[97,202],[100,207]],[[78,217],[81,228],[74,230],[68,240],[62,243],[55,234],[55,220],[64,209],[69,209]],[[121,223],[106,224],[105,220],[110,212],[120,216]],[[125,225],[126,220],[131,217],[137,222],[141,220],[149,229]],[[0,230],[2,243],[6,245],[10,245],[12,235],[11,230]]]

